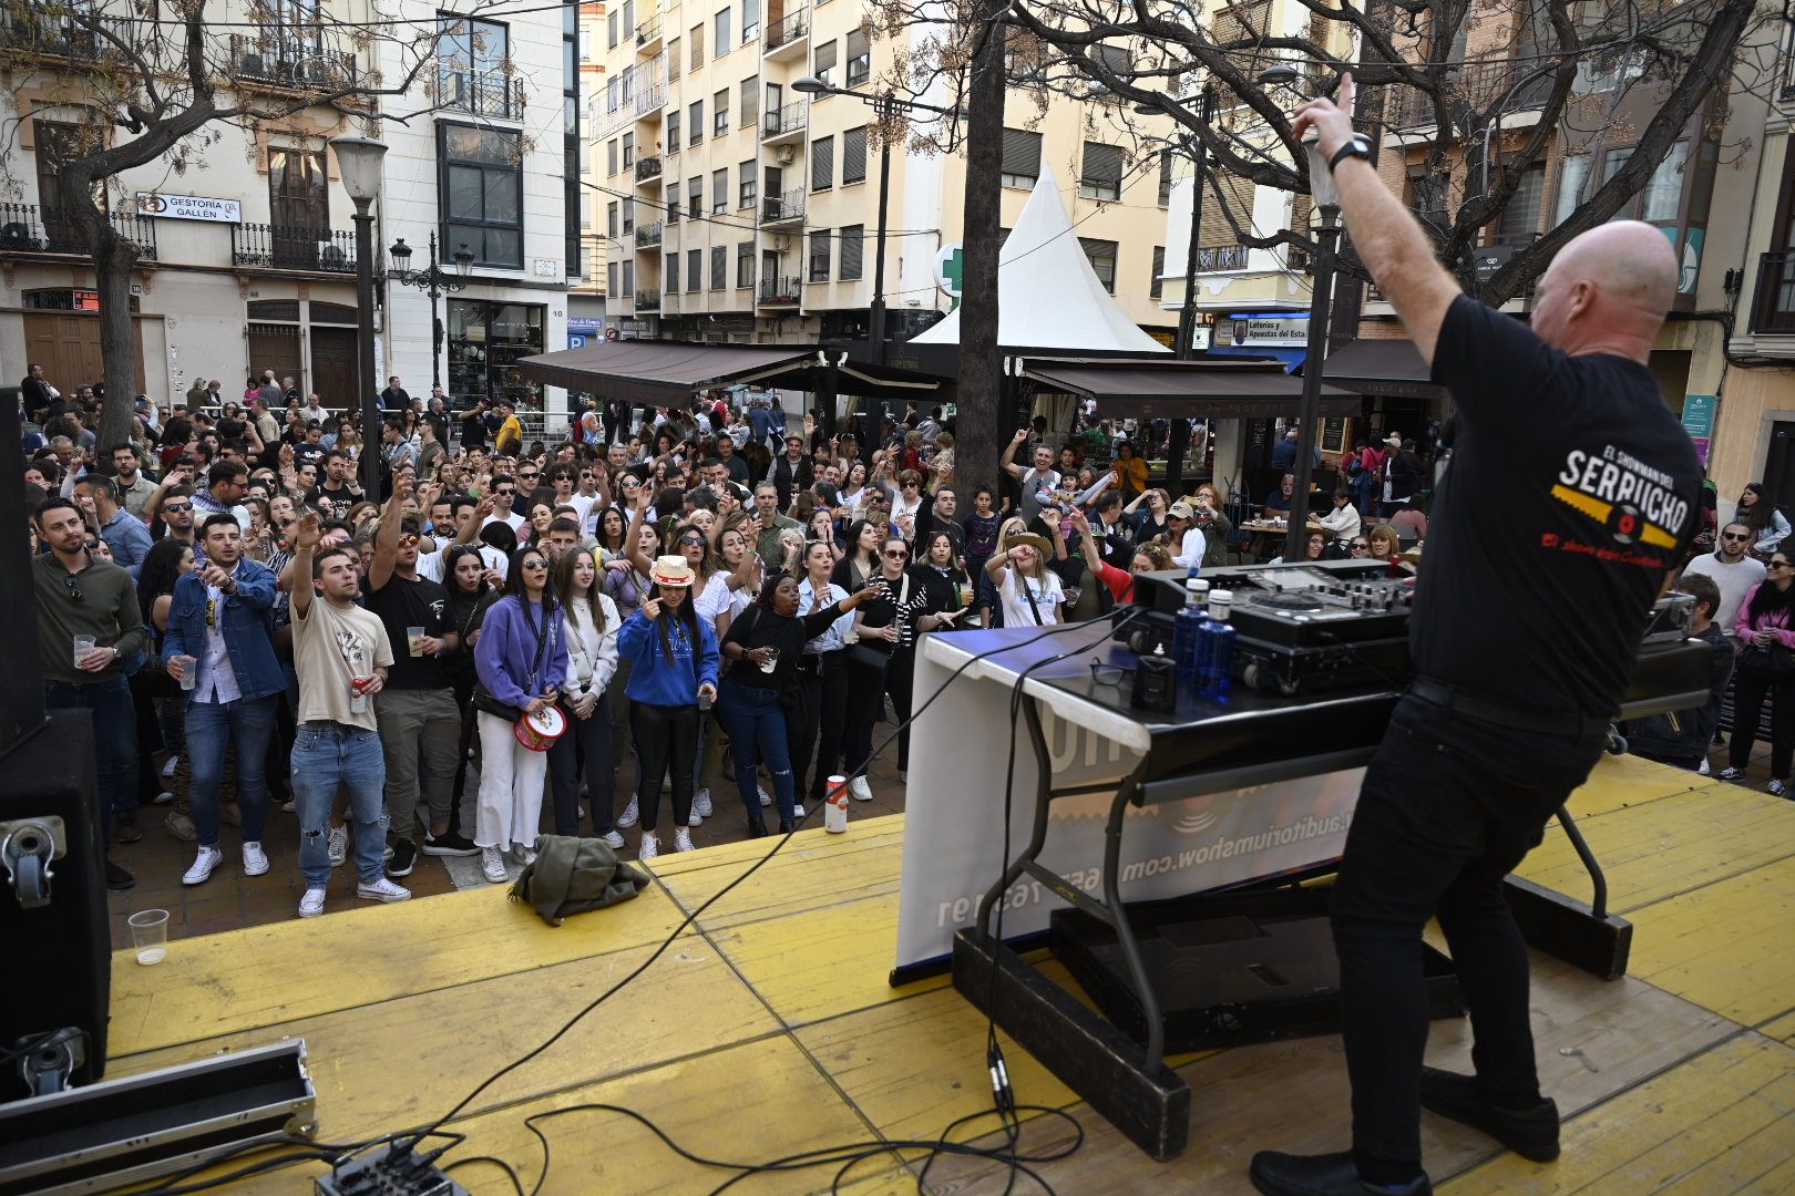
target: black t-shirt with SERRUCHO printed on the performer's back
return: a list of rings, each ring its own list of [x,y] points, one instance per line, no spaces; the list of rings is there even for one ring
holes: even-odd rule
[[[1694,533],[1689,436],[1646,366],[1571,357],[1467,296],[1440,326],[1432,378],[1458,427],[1409,622],[1416,672],[1612,717]]]

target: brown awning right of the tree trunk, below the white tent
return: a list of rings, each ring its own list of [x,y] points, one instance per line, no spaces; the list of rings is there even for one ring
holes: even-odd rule
[[[1298,414],[1301,378],[1278,362],[1055,359],[1023,360],[1025,378],[1066,394],[1097,400],[1097,414],[1111,420],[1269,420]],[[1323,416],[1359,414],[1359,396],[1321,387]]]

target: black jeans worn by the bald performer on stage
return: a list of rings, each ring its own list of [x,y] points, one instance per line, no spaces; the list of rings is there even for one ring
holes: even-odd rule
[[[1434,914],[1470,1008],[1479,1087],[1499,1105],[1538,1101],[1528,949],[1502,877],[1538,845],[1603,742],[1510,732],[1418,698],[1398,703],[1366,769],[1332,897],[1361,1171],[1371,1171],[1368,1160],[1420,1171],[1422,927]]]

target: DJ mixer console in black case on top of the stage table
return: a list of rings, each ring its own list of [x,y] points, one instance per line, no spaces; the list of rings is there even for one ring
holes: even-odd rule
[[[1210,592],[1231,590],[1230,622],[1237,631],[1235,680],[1256,690],[1294,698],[1357,685],[1405,687],[1409,608],[1414,586],[1389,577],[1384,561],[1314,561],[1307,565],[1242,565],[1206,568]],[[1115,638],[1136,654],[1156,647],[1172,653],[1174,620],[1185,604],[1185,574],[1140,574],[1134,604],[1116,606]],[[1693,599],[1659,599],[1644,646],[1680,644],[1689,633]]]

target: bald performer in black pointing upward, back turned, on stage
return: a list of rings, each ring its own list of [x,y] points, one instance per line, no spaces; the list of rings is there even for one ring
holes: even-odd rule
[[[1648,368],[1677,292],[1664,233],[1623,221],[1569,240],[1528,326],[1459,292],[1350,113],[1348,75],[1294,131],[1319,134],[1353,246],[1450,387],[1458,434],[1409,620],[1416,680],[1366,769],[1334,886],[1352,1151],[1256,1155],[1253,1185],[1276,1196],[1431,1192],[1422,1105],[1558,1157],[1502,879],[1603,751],[1702,479]],[[1474,1076],[1422,1067],[1432,916],[1470,1010]]]

